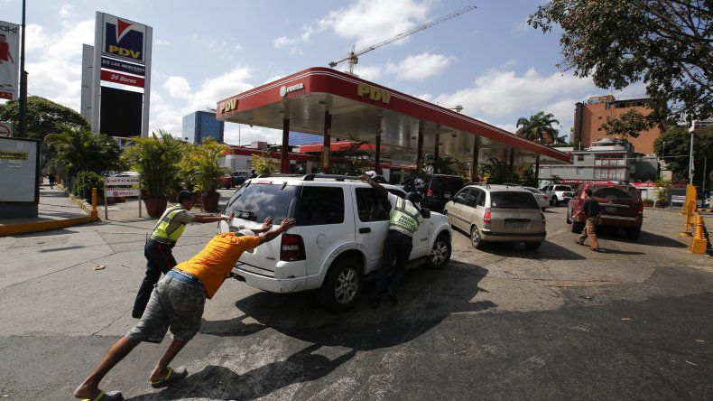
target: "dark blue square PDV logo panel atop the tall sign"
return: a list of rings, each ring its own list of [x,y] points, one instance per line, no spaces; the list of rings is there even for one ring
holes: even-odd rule
[[[144,61],[145,26],[109,15],[106,17],[104,52],[132,61]]]

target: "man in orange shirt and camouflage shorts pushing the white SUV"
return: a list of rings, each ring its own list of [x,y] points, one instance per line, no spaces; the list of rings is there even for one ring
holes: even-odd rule
[[[141,321],[106,351],[89,377],[74,390],[74,396],[90,400],[123,400],[119,392],[100,390],[99,382],[139,342],[159,343],[169,329],[173,340],[149,376],[151,386],[166,387],[188,376],[186,368],[171,368],[171,360],[199,331],[206,298],[216,294],[243,252],[294,227],[294,219],[283,219],[280,227],[270,230],[272,222],[272,218],[267,218],[260,229],[218,234],[198,255],[173,267],[153,289]]]

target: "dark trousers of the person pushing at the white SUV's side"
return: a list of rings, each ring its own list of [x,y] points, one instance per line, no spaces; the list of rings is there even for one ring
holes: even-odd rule
[[[411,256],[412,247],[413,238],[411,236],[394,229],[390,229],[389,233],[386,234],[384,258],[382,259],[379,275],[376,276],[374,299],[377,303],[381,301],[384,290],[386,290],[386,284],[389,284],[388,294],[396,294],[403,279],[403,273],[406,270],[406,262],[408,262],[409,256]],[[396,261],[395,265],[394,260]],[[389,275],[391,275],[392,271],[394,272],[394,276],[391,277],[391,283],[388,283]]]

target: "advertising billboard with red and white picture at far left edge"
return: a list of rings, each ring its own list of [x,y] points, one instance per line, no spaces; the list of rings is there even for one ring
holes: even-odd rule
[[[0,98],[16,100],[19,91],[20,26],[0,21]]]

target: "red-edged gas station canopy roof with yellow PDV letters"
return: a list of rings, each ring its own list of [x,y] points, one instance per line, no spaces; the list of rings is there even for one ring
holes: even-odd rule
[[[331,135],[375,143],[381,134],[384,158],[413,163],[419,130],[423,152],[432,153],[439,135],[440,154],[470,160],[478,138],[478,160],[505,160],[507,148],[516,149],[517,163],[569,163],[569,154],[523,139],[420,98],[388,89],[337,70],[315,67],[274,80],[218,102],[217,117],[232,123],[289,129],[322,135],[325,112],[331,115]]]

